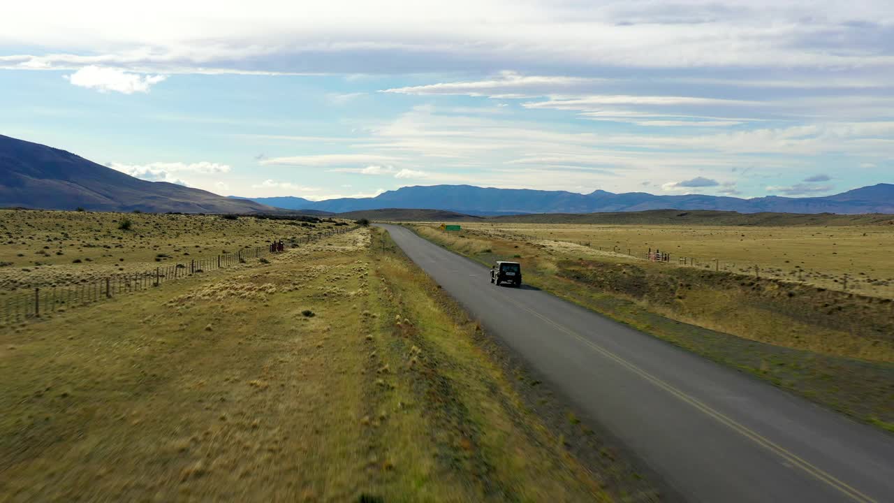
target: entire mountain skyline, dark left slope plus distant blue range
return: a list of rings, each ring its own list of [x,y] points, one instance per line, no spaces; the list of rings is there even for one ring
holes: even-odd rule
[[[650,209],[713,209],[739,213],[894,213],[894,184],[825,197],[739,199],[645,192],[588,194],[472,185],[403,187],[374,198],[311,201],[298,197],[238,198],[164,182],[147,182],[65,150],[0,135],[0,207],[183,213],[345,213],[369,209],[438,209],[468,215],[602,213]]]

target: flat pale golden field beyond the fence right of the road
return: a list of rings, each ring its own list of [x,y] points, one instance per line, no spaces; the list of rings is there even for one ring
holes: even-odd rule
[[[589,243],[643,257],[649,249],[696,267],[894,297],[894,226],[603,226],[463,223],[496,237]],[[714,260],[717,260],[716,263]],[[755,271],[755,266],[758,270]]]

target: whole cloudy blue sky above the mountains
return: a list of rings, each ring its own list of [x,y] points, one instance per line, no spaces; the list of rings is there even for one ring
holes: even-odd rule
[[[894,2],[31,0],[0,134],[223,195],[894,183]]]

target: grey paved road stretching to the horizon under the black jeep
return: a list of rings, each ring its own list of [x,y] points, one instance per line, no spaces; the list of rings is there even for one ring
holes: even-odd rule
[[[488,269],[398,226],[409,258],[686,499],[894,501],[894,438]]]

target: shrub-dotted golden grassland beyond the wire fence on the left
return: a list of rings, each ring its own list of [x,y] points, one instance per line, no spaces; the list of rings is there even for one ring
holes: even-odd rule
[[[124,220],[128,230],[119,228]],[[317,224],[215,215],[0,210],[0,294],[16,288],[71,286],[122,272],[143,272],[271,240],[331,229]]]

